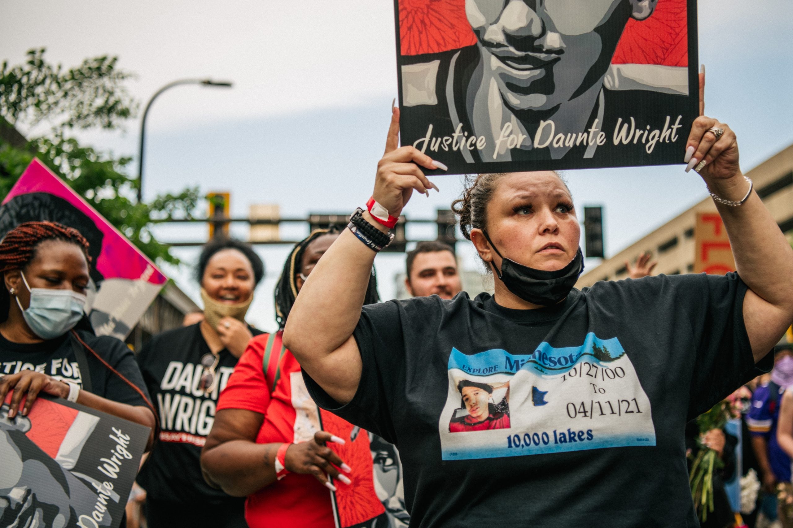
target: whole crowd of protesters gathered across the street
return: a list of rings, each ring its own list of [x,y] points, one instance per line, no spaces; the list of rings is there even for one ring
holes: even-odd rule
[[[289,252],[272,333],[246,322],[264,276],[246,243],[206,244],[202,312],[133,353],[86,318],[79,231],[13,228],[0,242],[3,419],[46,393],[151,428],[128,526],[696,526],[687,460],[703,449],[720,460],[705,526],[735,525],[738,477],[759,488],[741,504],[749,526],[793,526],[793,250],[730,128],[699,117],[680,158],[714,197],[736,273],[653,275],[643,255],[630,279],[576,289],[567,182],[480,174],[453,209],[494,293],[470,298],[454,248],[425,242],[406,259],[413,297],[381,302],[375,256],[413,191],[437,189],[422,169],[442,169],[398,147],[399,114],[366,209]],[[558,359],[531,359],[546,356]],[[691,428],[736,391],[742,475],[737,434]],[[19,494],[0,496],[2,521],[18,511],[31,511]]]

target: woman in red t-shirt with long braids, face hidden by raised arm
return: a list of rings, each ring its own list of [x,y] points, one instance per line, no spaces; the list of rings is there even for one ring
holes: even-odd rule
[[[338,236],[336,230],[313,231],[289,254],[275,289],[280,330],[252,339],[239,358],[201,453],[209,484],[247,496],[251,528],[385,521],[369,434],[320,411],[308,396],[300,365],[281,341],[297,292]],[[365,303],[376,302],[372,274]]]

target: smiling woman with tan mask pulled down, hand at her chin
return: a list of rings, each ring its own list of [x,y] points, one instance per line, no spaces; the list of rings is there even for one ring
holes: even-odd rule
[[[245,314],[264,265],[250,245],[214,239],[202,249],[196,272],[204,318],[155,335],[138,355],[163,429],[137,480],[147,492],[150,528],[246,526],[243,500],[210,488],[199,457],[217,397],[248,341],[261,333]]]

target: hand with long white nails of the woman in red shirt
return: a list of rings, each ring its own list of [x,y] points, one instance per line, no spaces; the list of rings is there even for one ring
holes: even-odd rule
[[[312,440],[292,444],[286,450],[284,467],[292,473],[310,473],[326,488],[330,488],[334,492],[336,488],[328,480],[328,475],[341,480],[344,484],[351,484],[351,480],[339,471],[341,469],[350,473],[350,467],[326,445],[328,442],[344,443],[341,438],[320,430],[314,434]]]

